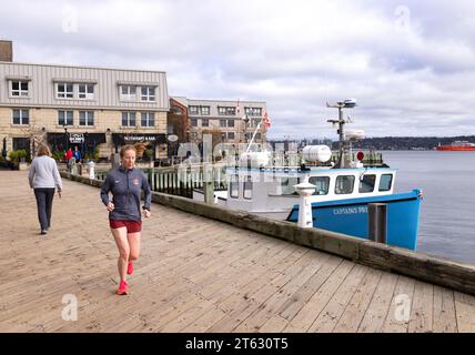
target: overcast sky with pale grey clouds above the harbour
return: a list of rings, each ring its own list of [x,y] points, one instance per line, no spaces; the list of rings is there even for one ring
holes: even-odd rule
[[[0,0],[14,61],[160,70],[169,93],[265,101],[270,138],[475,134],[475,2]]]

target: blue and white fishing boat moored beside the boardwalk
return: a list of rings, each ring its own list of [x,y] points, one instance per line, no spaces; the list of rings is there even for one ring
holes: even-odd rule
[[[214,192],[215,203],[297,223],[303,205],[299,187],[310,187],[306,203],[311,204],[311,227],[362,239],[368,239],[368,205],[383,203],[387,207],[386,243],[416,250],[422,191],[395,193],[395,169],[363,164],[363,152],[353,158],[352,143],[363,136],[363,131],[344,131],[352,121],[343,119],[343,110],[355,105],[355,100],[327,104],[338,109],[338,119],[329,120],[338,126],[335,163],[330,162],[332,151],[326,145],[305,146],[299,166],[270,166],[270,152],[247,150],[239,166],[226,168],[228,190]],[[195,190],[193,199],[203,200],[203,192]]]

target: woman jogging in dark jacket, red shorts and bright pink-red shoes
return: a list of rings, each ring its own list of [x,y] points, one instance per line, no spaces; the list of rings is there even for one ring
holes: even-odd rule
[[[133,273],[133,262],[140,256],[141,214],[145,219],[151,215],[152,193],[145,174],[135,169],[135,156],[133,145],[122,146],[121,165],[108,173],[101,189],[101,200],[109,211],[109,225],[119,250],[119,295],[129,292],[127,275]],[[141,206],[142,190],[145,201]],[[109,199],[109,192],[112,193],[112,200]]]

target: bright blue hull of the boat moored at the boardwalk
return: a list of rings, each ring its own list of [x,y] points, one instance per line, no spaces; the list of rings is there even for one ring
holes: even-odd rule
[[[312,203],[313,226],[332,232],[368,239],[368,203],[387,204],[387,244],[417,248],[421,191],[384,196],[348,199]],[[299,205],[294,205],[287,221],[297,222]]]

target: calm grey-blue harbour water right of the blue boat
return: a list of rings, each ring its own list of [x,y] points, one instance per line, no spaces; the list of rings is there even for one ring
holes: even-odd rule
[[[475,152],[384,151],[395,192],[422,189],[417,251],[475,264]]]

